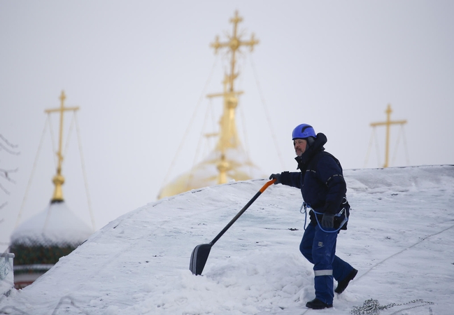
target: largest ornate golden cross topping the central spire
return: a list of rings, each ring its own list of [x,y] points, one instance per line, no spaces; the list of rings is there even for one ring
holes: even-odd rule
[[[218,53],[220,48],[229,48],[229,52],[232,53],[232,59],[230,60],[230,73],[228,74],[228,83],[229,83],[229,92],[234,92],[234,80],[238,77],[239,73],[235,73],[236,65],[236,51],[241,48],[241,46],[249,46],[250,51],[254,50],[254,45],[259,43],[255,39],[254,33],[250,36],[250,41],[241,41],[241,36],[238,35],[238,23],[243,22],[243,18],[238,15],[238,11],[235,11],[235,16],[230,19],[230,22],[233,23],[234,29],[232,36],[227,35],[229,39],[225,43],[220,43],[219,36],[215,37],[215,42],[211,43],[211,47],[214,48],[215,53]]]

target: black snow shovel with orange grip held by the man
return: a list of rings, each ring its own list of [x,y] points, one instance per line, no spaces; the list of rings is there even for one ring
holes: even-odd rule
[[[262,188],[260,188],[260,190],[255,194],[253,199],[249,200],[248,204],[246,204],[246,206],[244,206],[243,209],[241,209],[241,211],[239,211],[239,213],[236,214],[236,216],[234,218],[232,218],[232,221],[230,221],[229,224],[227,224],[225,226],[225,228],[222,231],[220,231],[220,233],[218,235],[216,235],[216,237],[213,239],[213,241],[211,241],[211,243],[200,244],[200,245],[195,246],[194,251],[192,251],[192,254],[191,254],[191,261],[190,261],[190,265],[189,265],[189,269],[192,272],[192,274],[195,274],[196,276],[201,274],[201,272],[204,270],[206,260],[208,260],[208,255],[210,254],[211,247],[215,244],[216,241],[218,241],[218,239],[220,239],[220,237],[222,237],[222,235],[224,235],[224,233],[227,230],[229,230],[229,228],[232,226],[232,224],[235,223],[235,221],[241,216],[241,214],[243,214],[244,211],[246,211],[246,209],[248,209],[249,206],[251,204],[253,204],[253,202],[255,202],[255,200],[260,195],[262,195],[262,193],[265,191],[265,189],[267,189],[268,186],[273,184],[275,181],[276,181],[276,179],[273,179],[273,180],[265,183],[264,186]]]

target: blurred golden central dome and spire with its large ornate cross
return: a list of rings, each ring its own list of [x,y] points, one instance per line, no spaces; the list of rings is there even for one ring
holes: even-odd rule
[[[178,176],[171,183],[166,184],[159,192],[158,199],[183,193],[187,190],[202,188],[206,186],[227,183],[227,181],[246,181],[248,179],[262,178],[264,175],[253,162],[250,161],[236,131],[236,107],[238,106],[238,97],[243,94],[235,90],[235,80],[239,76],[236,69],[236,58],[241,52],[242,47],[248,47],[252,51],[254,46],[259,43],[254,35],[249,41],[243,41],[242,33],[239,32],[238,25],[242,22],[238,12],[230,19],[233,24],[232,34],[227,34],[227,40],[221,42],[219,36],[211,43],[215,53],[224,50],[229,56],[229,64],[224,73],[223,91],[214,94],[208,94],[207,97],[222,97],[222,116],[219,121],[219,132],[206,134],[217,136],[217,143],[213,151],[209,153],[204,160],[192,166],[190,172]]]

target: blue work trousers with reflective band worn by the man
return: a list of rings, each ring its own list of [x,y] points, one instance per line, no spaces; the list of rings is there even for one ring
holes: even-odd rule
[[[313,263],[315,297],[327,304],[334,298],[333,278],[343,280],[353,270],[335,255],[336,239],[337,232],[323,232],[318,225],[309,224],[299,244],[299,251]]]

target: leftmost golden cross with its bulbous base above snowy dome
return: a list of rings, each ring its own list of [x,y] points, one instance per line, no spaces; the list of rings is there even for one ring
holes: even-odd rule
[[[63,155],[62,155],[62,143],[63,143],[63,113],[64,111],[77,111],[79,108],[76,107],[64,107],[64,100],[66,99],[66,95],[62,90],[62,94],[60,94],[60,107],[58,109],[46,109],[45,113],[52,113],[52,112],[59,112],[60,114],[60,127],[59,127],[59,140],[58,140],[58,151],[57,151],[57,158],[58,158],[58,165],[57,165],[57,174],[52,179],[52,183],[55,185],[54,195],[52,196],[51,202],[62,202],[63,201],[63,190],[62,185],[64,184],[64,176],[62,176],[62,162],[63,162]]]

